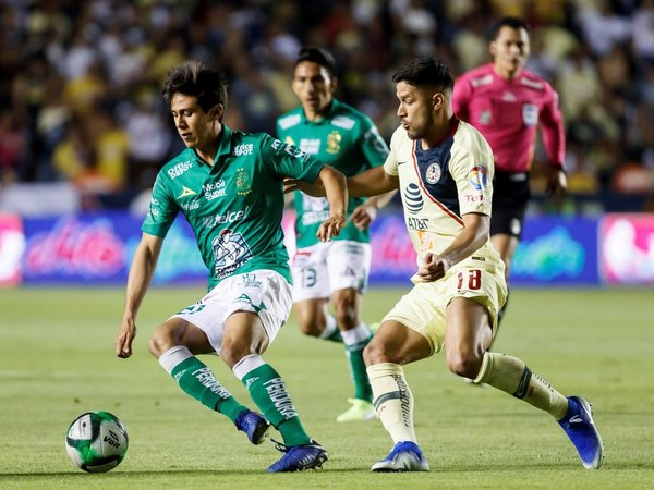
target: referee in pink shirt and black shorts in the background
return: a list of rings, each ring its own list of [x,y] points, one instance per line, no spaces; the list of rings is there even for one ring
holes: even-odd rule
[[[484,135],[495,156],[491,241],[506,264],[507,281],[531,196],[529,171],[538,125],[549,160],[547,192],[567,187],[558,95],[547,81],[524,69],[530,32],[522,19],[499,20],[491,36],[493,61],[461,75],[452,95],[455,114]],[[500,320],[505,309],[506,304]]]

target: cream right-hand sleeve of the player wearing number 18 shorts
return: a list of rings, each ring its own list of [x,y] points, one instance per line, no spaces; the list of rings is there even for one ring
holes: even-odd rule
[[[450,174],[457,183],[461,216],[470,212],[491,216],[493,197],[493,151],[484,137],[468,126],[456,135],[449,163]]]

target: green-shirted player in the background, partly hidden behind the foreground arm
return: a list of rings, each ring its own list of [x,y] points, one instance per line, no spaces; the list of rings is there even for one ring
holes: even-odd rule
[[[292,79],[301,106],[278,118],[277,136],[346,175],[383,164],[388,146],[367,115],[334,97],[336,88],[331,54],[319,48],[303,48]],[[338,240],[329,243],[316,238],[328,215],[326,199],[301,193],[294,199],[298,252],[292,271],[298,323],[307,335],[344,344],[354,382],[351,407],[337,417],[338,421],[375,417],[363,362],[363,350],[372,333],[361,321],[360,308],[371,266],[368,225],[392,195],[350,199],[348,224]],[[329,301],[334,315],[327,309]]]

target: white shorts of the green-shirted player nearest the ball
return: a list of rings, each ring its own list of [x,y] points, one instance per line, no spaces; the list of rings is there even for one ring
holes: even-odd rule
[[[272,343],[291,311],[291,285],[278,272],[257,270],[225,279],[201,301],[170,318],[181,318],[207,334],[220,355],[225,322],[235,311],[258,315]]]

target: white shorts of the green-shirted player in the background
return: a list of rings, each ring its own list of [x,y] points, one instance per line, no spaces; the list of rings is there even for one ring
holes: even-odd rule
[[[338,290],[367,287],[371,244],[337,240],[299,248],[293,257],[293,301],[330,297]]]

